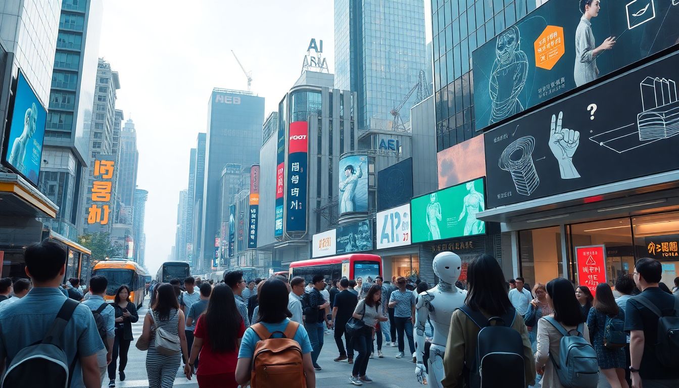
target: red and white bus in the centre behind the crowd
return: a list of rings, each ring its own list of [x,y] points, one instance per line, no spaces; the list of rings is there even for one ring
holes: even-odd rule
[[[314,275],[325,275],[327,280],[356,279],[362,277],[371,281],[382,276],[382,258],[378,255],[356,253],[329,258],[302,260],[290,264],[290,279],[299,276],[310,282]]]

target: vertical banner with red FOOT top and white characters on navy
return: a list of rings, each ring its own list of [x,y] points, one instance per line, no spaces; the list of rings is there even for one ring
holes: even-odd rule
[[[287,171],[287,232],[306,232],[306,181],[309,126],[306,121],[290,123]]]

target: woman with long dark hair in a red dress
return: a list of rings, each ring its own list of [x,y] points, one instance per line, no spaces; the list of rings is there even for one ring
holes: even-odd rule
[[[231,287],[220,284],[213,289],[205,313],[198,317],[191,357],[184,374],[191,379],[199,358],[196,379],[200,388],[236,388],[238,347],[245,332]]]

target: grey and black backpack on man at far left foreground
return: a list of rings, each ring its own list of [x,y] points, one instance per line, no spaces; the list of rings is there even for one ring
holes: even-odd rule
[[[78,304],[79,302],[73,299],[67,299],[45,337],[16,353],[3,377],[2,388],[68,388],[71,386],[77,357],[69,362],[66,352],[59,347],[59,343]],[[36,373],[36,371],[39,372]]]

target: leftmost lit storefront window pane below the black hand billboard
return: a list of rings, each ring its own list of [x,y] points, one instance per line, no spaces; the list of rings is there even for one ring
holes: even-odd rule
[[[547,283],[562,277],[563,258],[561,230],[559,226],[519,232],[521,276],[533,287],[536,282]]]

